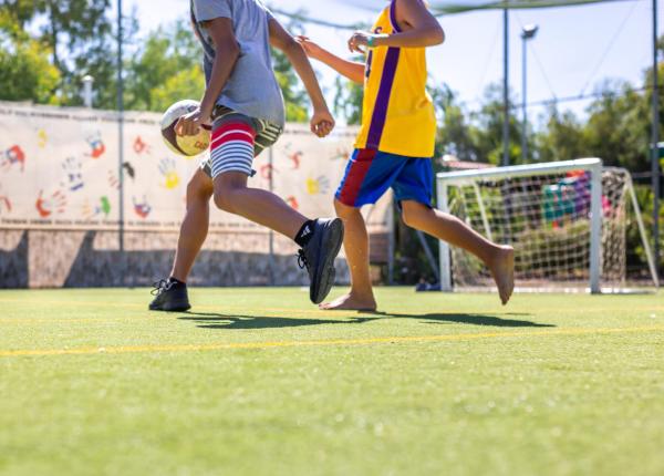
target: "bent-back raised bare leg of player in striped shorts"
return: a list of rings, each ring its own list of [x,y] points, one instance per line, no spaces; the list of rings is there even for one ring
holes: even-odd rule
[[[294,238],[307,217],[289,207],[277,195],[247,187],[247,175],[239,172],[219,175],[214,182],[217,207]]]

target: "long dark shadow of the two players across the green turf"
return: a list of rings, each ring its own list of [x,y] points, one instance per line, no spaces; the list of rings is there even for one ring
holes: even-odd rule
[[[186,315],[178,318],[183,321],[193,321],[201,329],[279,329],[279,328],[299,328],[302,325],[322,325],[322,324],[362,324],[375,320],[384,319],[416,319],[424,323],[459,323],[471,325],[485,325],[494,328],[554,328],[553,324],[542,324],[539,322],[501,319],[495,315],[484,314],[459,314],[459,313],[429,313],[429,314],[397,314],[388,312],[362,312],[356,318],[331,320],[331,319],[295,319],[295,318],[267,318],[259,315],[238,315],[221,314],[211,312],[187,312]],[[334,315],[333,313],[331,315]],[[528,314],[525,314],[528,315]]]

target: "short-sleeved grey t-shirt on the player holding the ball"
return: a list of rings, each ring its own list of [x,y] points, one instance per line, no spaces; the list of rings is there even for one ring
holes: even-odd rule
[[[259,0],[190,0],[191,20],[205,52],[204,69],[209,83],[215,44],[201,24],[216,18],[232,20],[240,56],[217,104],[249,117],[283,126],[286,112],[281,89],[270,55],[270,11]]]

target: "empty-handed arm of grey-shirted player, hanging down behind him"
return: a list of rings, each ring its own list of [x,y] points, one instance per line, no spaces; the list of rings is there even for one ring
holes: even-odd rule
[[[319,137],[326,136],[334,128],[334,118],[330,114],[328,103],[304,50],[274,19],[270,20],[270,43],[272,46],[283,51],[295,69],[298,76],[304,83],[304,87],[313,105],[311,132]]]

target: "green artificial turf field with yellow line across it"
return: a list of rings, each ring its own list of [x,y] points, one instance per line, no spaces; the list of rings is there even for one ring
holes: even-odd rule
[[[0,292],[2,475],[662,475],[664,296]]]

